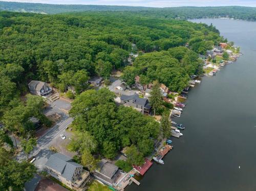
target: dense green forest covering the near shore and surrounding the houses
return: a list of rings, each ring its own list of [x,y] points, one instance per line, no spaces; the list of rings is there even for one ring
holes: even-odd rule
[[[0,144],[12,148],[8,152],[1,147],[0,165],[6,167],[0,168],[0,179],[8,172],[18,173],[18,182],[9,176],[0,181],[0,189],[20,189],[36,171],[28,162],[12,160],[16,142],[6,133],[22,139],[28,159],[36,146],[30,117],[47,127],[52,125],[43,113],[44,99],[26,96],[31,80],[48,82],[62,92],[75,88],[70,115],[77,136],[70,149],[81,154],[83,165],[93,161],[90,168],[94,169],[94,155],[113,159],[127,147],[129,160],[119,165],[129,169],[132,164],[142,164],[152,152],[163,125],[132,108],[117,106],[115,94],[106,88],[88,90],[88,79],[100,76],[106,81],[113,70],[120,70],[129,85],[139,75],[141,83],[159,81],[181,91],[191,75],[202,73],[198,54],[221,41],[226,39],[212,25],[131,12],[0,12],[0,122],[5,125]],[[133,65],[128,62],[131,53],[139,55]],[[162,104],[161,98],[157,104]],[[168,117],[163,118],[167,132]],[[27,176],[20,172],[22,168]]]

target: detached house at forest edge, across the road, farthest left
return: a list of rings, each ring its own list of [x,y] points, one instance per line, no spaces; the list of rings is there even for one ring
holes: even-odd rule
[[[52,92],[52,88],[45,82],[32,80],[29,82],[28,86],[30,92],[38,96],[47,96]]]

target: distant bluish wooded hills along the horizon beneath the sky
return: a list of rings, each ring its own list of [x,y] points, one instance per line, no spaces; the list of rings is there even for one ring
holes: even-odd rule
[[[82,11],[131,11],[134,14],[162,18],[191,19],[205,17],[229,17],[234,19],[256,20],[255,7],[239,6],[149,8],[129,6],[50,5],[37,3],[0,2],[0,10],[41,14],[58,14]]]

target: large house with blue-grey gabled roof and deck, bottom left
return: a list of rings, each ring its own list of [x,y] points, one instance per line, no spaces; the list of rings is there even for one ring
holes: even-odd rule
[[[83,170],[83,166],[74,162],[69,156],[55,153],[46,162],[48,173],[66,184],[68,187],[84,191],[87,189],[87,182],[90,180],[90,173]]]

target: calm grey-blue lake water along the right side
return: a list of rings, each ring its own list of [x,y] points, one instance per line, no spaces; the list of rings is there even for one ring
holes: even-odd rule
[[[175,120],[184,136],[173,138],[164,165],[154,163],[140,186],[126,190],[256,190],[256,22],[193,21],[212,23],[244,55],[189,91]]]

